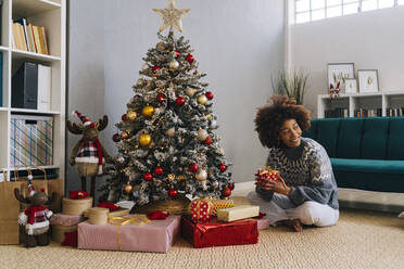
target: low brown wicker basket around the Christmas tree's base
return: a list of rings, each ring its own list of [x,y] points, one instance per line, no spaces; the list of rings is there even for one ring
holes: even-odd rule
[[[169,213],[171,215],[181,215],[188,213],[188,206],[191,203],[185,195],[178,194],[175,198],[166,201],[155,201],[146,205],[134,206],[132,214],[148,214],[155,210]]]

